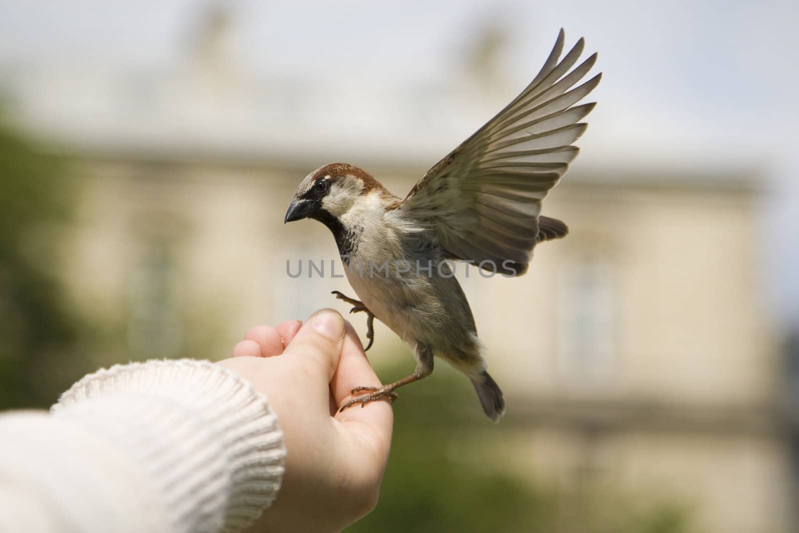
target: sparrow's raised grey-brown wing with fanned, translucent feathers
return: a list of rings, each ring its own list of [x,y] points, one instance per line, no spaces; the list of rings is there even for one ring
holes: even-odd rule
[[[428,170],[392,217],[432,232],[453,259],[492,261],[484,268],[516,276],[527,272],[537,241],[566,234],[566,225],[555,219],[541,228],[541,201],[577,156],[571,144],[585,132],[587,124],[579,121],[595,104],[574,104],[597,86],[602,74],[571,89],[594,66],[597,54],[568,72],[584,41],[559,62],[563,39],[560,30],[530,85]]]

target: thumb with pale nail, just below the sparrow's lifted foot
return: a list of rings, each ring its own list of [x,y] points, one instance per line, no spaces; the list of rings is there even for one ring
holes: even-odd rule
[[[320,309],[308,317],[300,331],[288,344],[284,356],[300,360],[310,373],[329,384],[344,344],[344,319],[332,309]]]

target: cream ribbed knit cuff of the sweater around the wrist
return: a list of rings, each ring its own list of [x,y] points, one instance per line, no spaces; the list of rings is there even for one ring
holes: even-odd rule
[[[101,370],[52,411],[141,465],[176,531],[240,531],[280,488],[285,449],[275,414],[251,384],[209,361]]]

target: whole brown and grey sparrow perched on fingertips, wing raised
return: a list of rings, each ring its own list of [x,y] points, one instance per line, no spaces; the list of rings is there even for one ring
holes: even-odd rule
[[[352,389],[340,412],[393,402],[397,388],[430,376],[438,357],[471,380],[488,418],[496,422],[505,413],[503,392],[487,372],[487,348],[453,275],[455,261],[522,276],[536,245],[569,231],[543,216],[541,205],[578,154],[574,141],[586,131],[581,121],[596,102],[576,104],[602,73],[582,82],[597,54],[572,69],[585,41],[580,38],[561,58],[564,41],[561,29],[533,81],[433,165],[404,199],[347,163],[324,165],[297,186],[284,223],[309,218],[331,230],[360,300],[333,293],[353,305],[351,312],[367,313],[367,349],[376,318],[413,349],[416,360],[410,376]]]

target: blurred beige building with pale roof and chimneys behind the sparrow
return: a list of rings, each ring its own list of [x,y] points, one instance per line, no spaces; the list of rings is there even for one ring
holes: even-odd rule
[[[513,96],[486,86],[485,50],[429,86],[257,78],[225,55],[226,28],[210,14],[169,71],[2,70],[14,118],[85,178],[64,276],[87,312],[125,324],[108,362],[187,347],[221,358],[252,324],[344,310],[328,230],[283,225],[296,184],[348,161],[402,194]],[[509,397],[500,467],[675,499],[696,531],[793,531],[757,192],[754,169],[586,153],[544,208],[568,238],[536,249],[523,278],[460,275]],[[386,328],[376,336],[373,359],[401,352]]]

